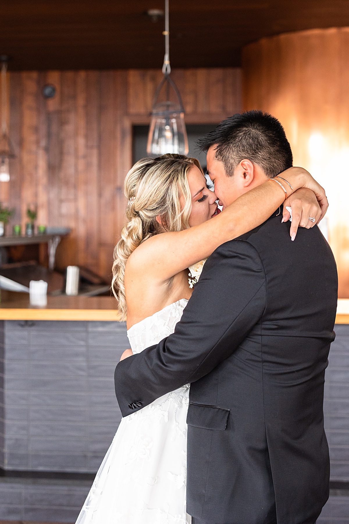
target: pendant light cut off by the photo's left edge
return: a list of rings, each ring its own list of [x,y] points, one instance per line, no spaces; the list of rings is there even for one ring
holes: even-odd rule
[[[8,136],[7,116],[7,60],[6,55],[0,56],[1,63],[1,135],[0,135],[0,182],[8,182],[10,179],[9,159],[14,158],[13,147]]]

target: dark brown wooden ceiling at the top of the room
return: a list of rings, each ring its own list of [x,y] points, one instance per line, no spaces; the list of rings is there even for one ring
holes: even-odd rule
[[[162,0],[2,0],[0,54],[10,70],[160,68]],[[240,65],[263,36],[349,26],[348,0],[170,0],[173,67]]]

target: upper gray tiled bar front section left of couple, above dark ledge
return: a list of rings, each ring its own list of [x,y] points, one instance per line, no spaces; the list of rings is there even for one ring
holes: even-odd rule
[[[94,473],[121,420],[127,347],[120,322],[0,322],[0,467]]]

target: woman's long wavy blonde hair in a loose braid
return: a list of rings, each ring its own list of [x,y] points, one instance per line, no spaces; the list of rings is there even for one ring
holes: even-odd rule
[[[126,318],[125,266],[131,253],[147,238],[164,231],[182,231],[189,227],[192,196],[188,171],[196,166],[203,173],[196,158],[182,155],[163,155],[142,158],[126,175],[125,196],[127,224],[114,249],[111,289],[119,301],[122,320]],[[182,209],[180,199],[183,197]],[[161,225],[156,216],[161,216]]]

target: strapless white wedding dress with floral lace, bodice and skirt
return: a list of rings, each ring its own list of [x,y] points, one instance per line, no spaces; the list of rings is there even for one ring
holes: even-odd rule
[[[187,300],[127,332],[133,353],[174,332]],[[76,524],[186,524],[189,385],[124,417]]]

